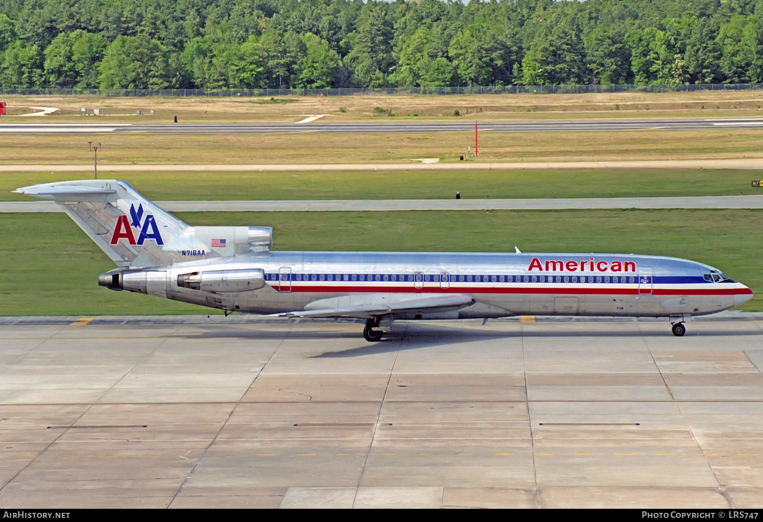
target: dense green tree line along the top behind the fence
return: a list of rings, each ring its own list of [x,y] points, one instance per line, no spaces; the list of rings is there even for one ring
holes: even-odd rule
[[[0,86],[763,81],[763,0],[0,0]]]

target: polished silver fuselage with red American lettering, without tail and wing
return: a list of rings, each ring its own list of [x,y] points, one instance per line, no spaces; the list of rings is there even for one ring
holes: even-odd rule
[[[189,272],[234,269],[262,269],[266,285],[251,292],[203,292],[178,285],[179,276]],[[146,270],[150,295],[253,314],[305,310],[330,298],[362,305],[465,294],[475,298],[472,306],[395,318],[688,317],[732,308],[752,297],[739,282],[708,280],[718,271],[702,263],[629,254],[266,252]]]

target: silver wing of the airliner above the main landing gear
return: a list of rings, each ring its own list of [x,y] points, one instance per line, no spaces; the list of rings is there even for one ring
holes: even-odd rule
[[[280,317],[372,317],[374,315],[397,314],[403,312],[438,312],[466,308],[475,303],[475,298],[465,294],[427,295],[392,301],[384,304],[356,304],[341,308],[319,308],[306,311],[274,314]]]

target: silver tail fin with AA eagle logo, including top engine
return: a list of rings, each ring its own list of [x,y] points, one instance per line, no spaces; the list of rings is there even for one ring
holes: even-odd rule
[[[191,227],[116,179],[86,179],[15,190],[55,201],[121,267],[169,265],[266,250],[270,227]]]

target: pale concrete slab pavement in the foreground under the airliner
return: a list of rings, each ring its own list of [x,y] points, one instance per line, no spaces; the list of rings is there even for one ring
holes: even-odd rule
[[[763,321],[5,317],[4,508],[763,506]]]

